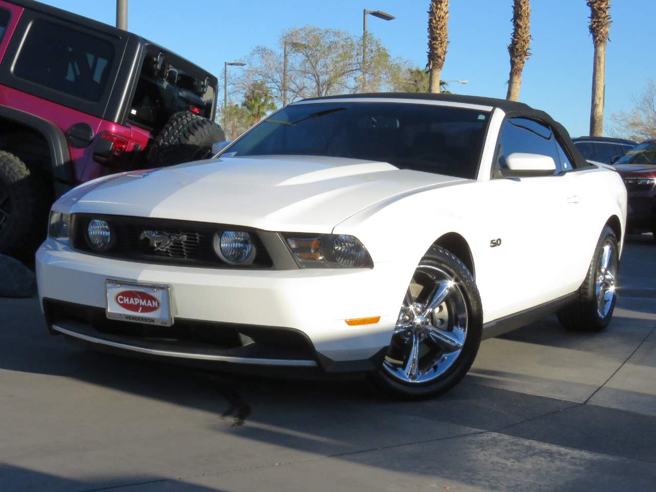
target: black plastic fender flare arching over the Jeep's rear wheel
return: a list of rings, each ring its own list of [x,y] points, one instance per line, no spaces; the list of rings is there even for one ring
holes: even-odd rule
[[[56,195],[62,194],[75,183],[68,141],[62,129],[47,119],[7,106],[0,106],[0,118],[16,121],[24,127],[37,131],[45,138],[51,159]]]

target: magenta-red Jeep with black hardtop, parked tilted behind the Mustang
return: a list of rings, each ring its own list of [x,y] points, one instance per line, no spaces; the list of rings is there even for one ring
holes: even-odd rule
[[[206,157],[216,77],[143,39],[32,0],[0,0],[0,253],[26,258],[82,182]]]

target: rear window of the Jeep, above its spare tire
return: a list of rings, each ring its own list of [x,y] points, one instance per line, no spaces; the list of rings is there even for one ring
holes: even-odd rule
[[[203,117],[212,115],[214,88],[171,65],[157,71],[152,58],[144,59],[128,121],[159,132],[173,113],[192,110]]]

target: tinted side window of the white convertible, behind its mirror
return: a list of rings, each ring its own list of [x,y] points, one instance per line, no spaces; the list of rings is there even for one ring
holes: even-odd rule
[[[556,138],[550,127],[543,123],[527,118],[511,118],[504,122],[497,145],[497,157],[492,167],[493,178],[502,177],[502,170],[508,169],[506,158],[514,152],[548,155],[556,164],[554,174],[560,173]],[[571,167],[571,163],[569,165]]]

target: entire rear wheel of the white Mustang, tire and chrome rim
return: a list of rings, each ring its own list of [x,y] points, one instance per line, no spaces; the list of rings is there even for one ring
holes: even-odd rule
[[[613,318],[619,281],[619,245],[606,226],[594,250],[579,298],[558,313],[558,321],[571,331],[602,331]]]

